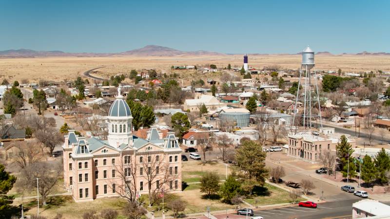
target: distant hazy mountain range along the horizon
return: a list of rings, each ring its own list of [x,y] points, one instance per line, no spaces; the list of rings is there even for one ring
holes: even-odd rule
[[[302,53],[297,53],[297,55]],[[66,53],[62,51],[35,51],[28,49],[19,50],[5,50],[0,51],[0,57],[51,57],[51,56],[120,56],[120,55],[140,55],[140,56],[176,56],[176,55],[227,55],[217,52],[209,51],[191,51],[184,52],[164,46],[148,45],[140,49],[129,50],[122,53]],[[231,54],[232,55],[232,54]],[[269,55],[269,54],[250,54],[250,55]],[[287,54],[279,54],[287,55]],[[316,55],[333,55],[330,52],[317,52]],[[346,54],[341,55],[390,55],[390,53],[369,53],[364,51],[357,54]]]

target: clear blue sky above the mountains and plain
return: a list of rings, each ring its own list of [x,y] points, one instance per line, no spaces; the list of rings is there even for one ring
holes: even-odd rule
[[[390,52],[389,0],[0,0],[0,50]]]

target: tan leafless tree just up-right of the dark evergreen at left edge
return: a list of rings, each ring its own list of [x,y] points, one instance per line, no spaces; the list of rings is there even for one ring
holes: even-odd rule
[[[42,158],[41,153],[41,146],[36,141],[30,141],[29,143],[23,142],[16,142],[14,148],[15,149],[15,156],[13,156],[11,159],[15,164],[17,164],[21,169],[26,168],[29,165],[35,164],[40,161]]]

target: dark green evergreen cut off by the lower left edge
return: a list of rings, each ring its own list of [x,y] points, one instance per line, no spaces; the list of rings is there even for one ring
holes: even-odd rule
[[[10,209],[14,198],[6,194],[15,182],[16,177],[6,172],[4,165],[0,164],[0,218],[11,218]]]

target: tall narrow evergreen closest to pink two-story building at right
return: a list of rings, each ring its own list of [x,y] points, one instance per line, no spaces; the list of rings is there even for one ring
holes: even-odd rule
[[[340,137],[340,142],[336,145],[337,157],[340,160],[341,172],[343,177],[348,177],[351,179],[356,176],[356,165],[354,164],[354,158],[352,157],[353,149],[350,143],[348,143],[347,137],[342,135]],[[349,164],[349,165],[348,165]],[[349,167],[349,169],[348,169]]]

